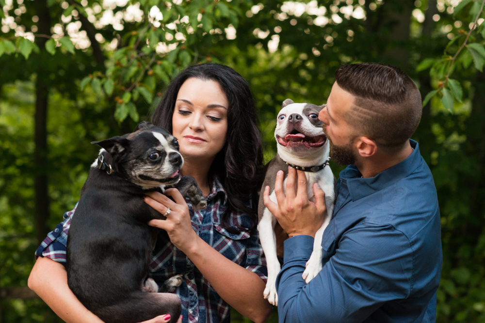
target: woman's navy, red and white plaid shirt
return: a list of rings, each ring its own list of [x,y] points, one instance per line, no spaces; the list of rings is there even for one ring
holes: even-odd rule
[[[226,210],[227,194],[217,179],[213,181],[206,200],[207,208],[200,211],[194,210],[188,202],[194,231],[226,258],[256,273],[266,281],[266,261],[258,231],[255,229],[251,232],[242,231],[239,234],[233,234],[221,224],[221,216]],[[48,257],[65,264],[67,233],[75,210],[76,207],[66,212],[64,221],[49,232],[35,252],[36,258]],[[247,215],[237,213],[231,216],[229,223],[233,226],[240,224],[247,228],[250,221]],[[230,322],[229,305],[195,268],[194,263],[170,242],[166,231],[161,230],[159,233],[149,270],[149,276],[159,285],[176,274],[183,274],[182,285],[177,288],[177,294],[182,303],[183,323]]]

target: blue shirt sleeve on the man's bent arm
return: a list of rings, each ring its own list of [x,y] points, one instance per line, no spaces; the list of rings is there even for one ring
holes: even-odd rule
[[[280,323],[362,322],[386,301],[409,295],[413,251],[402,232],[390,226],[354,228],[338,244],[306,284],[302,274],[313,238],[285,241],[284,265],[276,280]]]

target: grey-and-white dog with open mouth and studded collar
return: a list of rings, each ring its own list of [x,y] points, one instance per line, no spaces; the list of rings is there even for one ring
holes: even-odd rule
[[[273,305],[278,305],[275,282],[281,267],[276,256],[276,218],[264,206],[262,194],[264,188],[270,186],[270,199],[277,203],[274,192],[276,173],[280,169],[285,172],[283,187],[286,193],[288,166],[305,171],[309,200],[315,201],[312,187],[314,183],[318,183],[325,192],[327,216],[315,234],[313,252],[307,261],[303,278],[308,283],[322,270],[322,234],[332,217],[335,200],[335,177],[328,166],[330,147],[323,134],[323,123],[318,120],[318,113],[323,107],[309,103],[294,103],[286,99],[278,113],[275,129],[278,154],[268,164],[258,205],[259,239],[268,265],[268,282],[264,298]]]

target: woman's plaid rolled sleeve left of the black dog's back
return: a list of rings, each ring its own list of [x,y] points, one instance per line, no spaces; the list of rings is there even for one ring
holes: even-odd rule
[[[71,226],[71,219],[76,211],[76,206],[73,210],[64,214],[64,221],[59,223],[56,228],[47,234],[47,237],[42,241],[40,246],[35,251],[35,259],[39,257],[47,257],[53,261],[60,262],[65,265],[66,249],[67,249],[67,234]]]

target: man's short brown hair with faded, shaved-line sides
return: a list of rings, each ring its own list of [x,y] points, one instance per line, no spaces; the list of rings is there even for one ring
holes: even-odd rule
[[[394,152],[416,131],[421,94],[400,68],[380,63],[342,65],[335,80],[356,97],[346,116],[356,127],[356,136],[369,137],[384,151]]]

